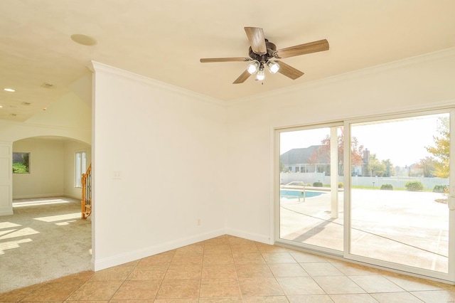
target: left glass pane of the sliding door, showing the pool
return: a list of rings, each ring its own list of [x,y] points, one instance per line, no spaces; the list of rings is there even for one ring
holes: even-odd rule
[[[279,132],[279,238],[343,250],[342,127]]]

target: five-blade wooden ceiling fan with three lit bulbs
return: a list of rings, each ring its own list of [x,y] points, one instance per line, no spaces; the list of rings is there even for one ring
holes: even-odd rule
[[[264,68],[266,67],[270,73],[278,72],[295,80],[301,75],[304,75],[304,73],[280,60],[272,59],[289,58],[296,55],[328,50],[328,41],[326,39],[277,50],[277,46],[275,46],[274,43],[269,42],[264,38],[264,31],[262,28],[245,27],[245,33],[247,33],[248,41],[250,41],[250,58],[201,58],[200,62],[252,61],[252,63],[248,65],[247,70],[245,70],[233,84],[244,83],[245,80],[253,74],[256,74],[256,80],[264,80]]]

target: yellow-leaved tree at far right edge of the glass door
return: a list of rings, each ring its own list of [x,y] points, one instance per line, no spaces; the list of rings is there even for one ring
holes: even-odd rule
[[[449,177],[450,132],[449,117],[439,117],[438,132],[440,137],[433,137],[434,147],[425,147],[430,154],[436,157],[434,161],[434,176]]]

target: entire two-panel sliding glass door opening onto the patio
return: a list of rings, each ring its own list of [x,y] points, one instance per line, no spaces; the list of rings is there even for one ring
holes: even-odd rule
[[[453,112],[278,129],[277,242],[455,282]]]

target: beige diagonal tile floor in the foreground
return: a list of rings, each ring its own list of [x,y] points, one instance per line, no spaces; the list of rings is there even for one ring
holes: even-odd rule
[[[0,302],[455,302],[455,287],[223,235]]]

